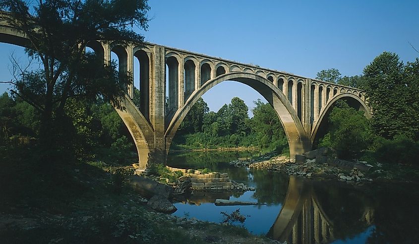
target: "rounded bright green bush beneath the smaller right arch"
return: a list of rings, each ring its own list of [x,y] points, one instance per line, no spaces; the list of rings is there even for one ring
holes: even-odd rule
[[[321,144],[329,144],[340,158],[358,157],[371,143],[368,119],[362,111],[357,111],[346,102],[337,102],[329,115],[331,129]]]

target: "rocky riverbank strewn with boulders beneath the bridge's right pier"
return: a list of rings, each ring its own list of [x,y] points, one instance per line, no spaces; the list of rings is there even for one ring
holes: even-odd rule
[[[366,182],[419,183],[419,167],[409,164],[371,163],[335,159],[335,163],[316,162],[306,159],[303,163],[291,163],[287,155],[267,153],[251,159],[238,159],[229,164],[269,170],[305,178],[335,179],[350,184]],[[337,162],[337,163],[336,163]]]

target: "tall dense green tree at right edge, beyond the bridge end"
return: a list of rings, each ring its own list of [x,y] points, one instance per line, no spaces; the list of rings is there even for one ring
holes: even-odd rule
[[[404,65],[396,53],[383,52],[363,73],[375,132],[419,140],[419,60]]]

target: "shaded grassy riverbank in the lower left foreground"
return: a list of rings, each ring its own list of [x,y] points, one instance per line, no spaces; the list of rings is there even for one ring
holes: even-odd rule
[[[127,185],[131,167],[7,167],[0,174],[3,243],[275,243],[244,228],[150,210]]]

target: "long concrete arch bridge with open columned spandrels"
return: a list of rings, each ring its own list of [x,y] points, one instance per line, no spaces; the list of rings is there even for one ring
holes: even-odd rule
[[[9,27],[6,17],[4,12],[0,15],[0,42],[25,47],[25,36]],[[123,102],[125,110],[117,111],[134,139],[142,168],[150,155],[166,158],[193,104],[227,80],[248,85],[273,106],[287,135],[292,159],[311,149],[325,114],[336,100],[349,99],[369,115],[364,91],[351,87],[151,43],[121,47],[94,41],[87,46],[104,62],[111,61],[114,52],[120,72],[132,77],[134,59],[140,63],[139,81],[131,81]],[[137,82],[139,107],[131,100]]]

